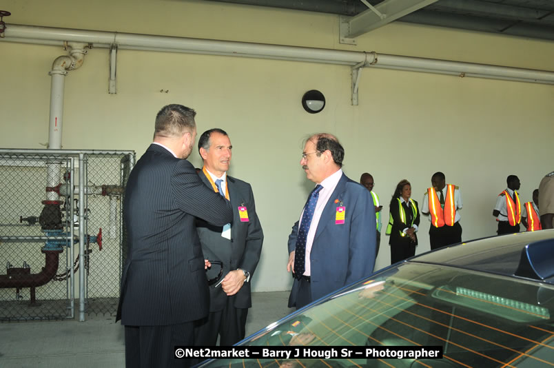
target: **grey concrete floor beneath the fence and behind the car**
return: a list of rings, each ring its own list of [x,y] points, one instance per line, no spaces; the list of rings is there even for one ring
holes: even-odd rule
[[[289,292],[252,294],[247,336],[283,318]],[[76,320],[0,323],[2,368],[125,367],[123,327],[113,316]]]

